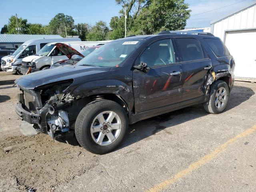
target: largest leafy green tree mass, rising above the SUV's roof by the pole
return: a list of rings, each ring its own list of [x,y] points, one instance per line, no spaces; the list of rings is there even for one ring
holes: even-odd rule
[[[128,35],[184,29],[191,11],[184,0],[116,0],[116,3],[127,10]],[[112,17],[110,27],[113,29],[111,37],[117,37],[117,31],[124,30],[123,10],[119,17]]]

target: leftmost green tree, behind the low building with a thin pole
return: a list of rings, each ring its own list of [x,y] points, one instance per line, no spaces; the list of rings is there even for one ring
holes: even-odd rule
[[[18,26],[17,26],[17,20],[18,20]],[[7,25],[7,30],[8,30],[8,34],[13,34],[14,32],[16,34],[30,34],[29,30],[28,30],[28,20],[26,19],[22,19],[22,18],[18,18],[16,20],[16,16],[12,15],[9,18],[9,22]]]

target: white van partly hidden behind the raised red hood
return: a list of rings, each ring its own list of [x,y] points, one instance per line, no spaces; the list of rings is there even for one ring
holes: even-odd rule
[[[110,41],[81,41],[81,42],[55,42],[46,44],[36,55],[28,56],[22,59],[21,73],[26,74],[28,69],[31,68],[31,72],[44,70],[50,68],[50,66],[56,62],[66,60],[68,57],[61,52],[56,44],[64,43],[78,52],[82,52],[88,47],[104,45]]]

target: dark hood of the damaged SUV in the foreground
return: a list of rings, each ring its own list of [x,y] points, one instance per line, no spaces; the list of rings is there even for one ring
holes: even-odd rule
[[[73,84],[88,82],[94,74],[108,72],[110,68],[93,66],[60,66],[47,70],[34,72],[18,78],[15,83],[26,89],[34,89],[42,85],[73,79]]]

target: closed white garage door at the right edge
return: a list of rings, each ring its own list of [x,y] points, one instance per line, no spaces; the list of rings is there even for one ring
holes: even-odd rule
[[[226,46],[235,59],[235,76],[256,78],[256,30],[226,33]]]

